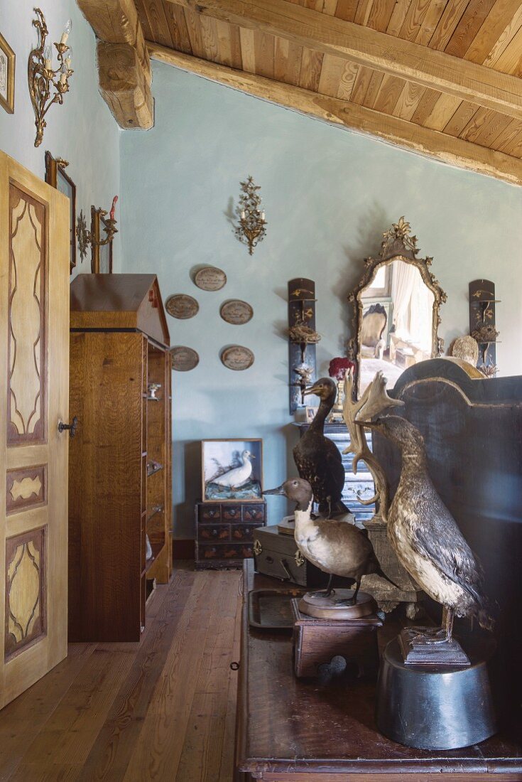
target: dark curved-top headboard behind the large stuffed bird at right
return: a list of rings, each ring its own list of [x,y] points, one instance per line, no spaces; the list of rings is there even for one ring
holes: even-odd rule
[[[486,591],[496,604],[495,668],[520,707],[522,377],[475,379],[465,367],[443,358],[415,364],[390,396],[405,402],[399,414],[424,435],[434,486],[484,565]],[[374,451],[393,496],[399,451],[378,435]]]

